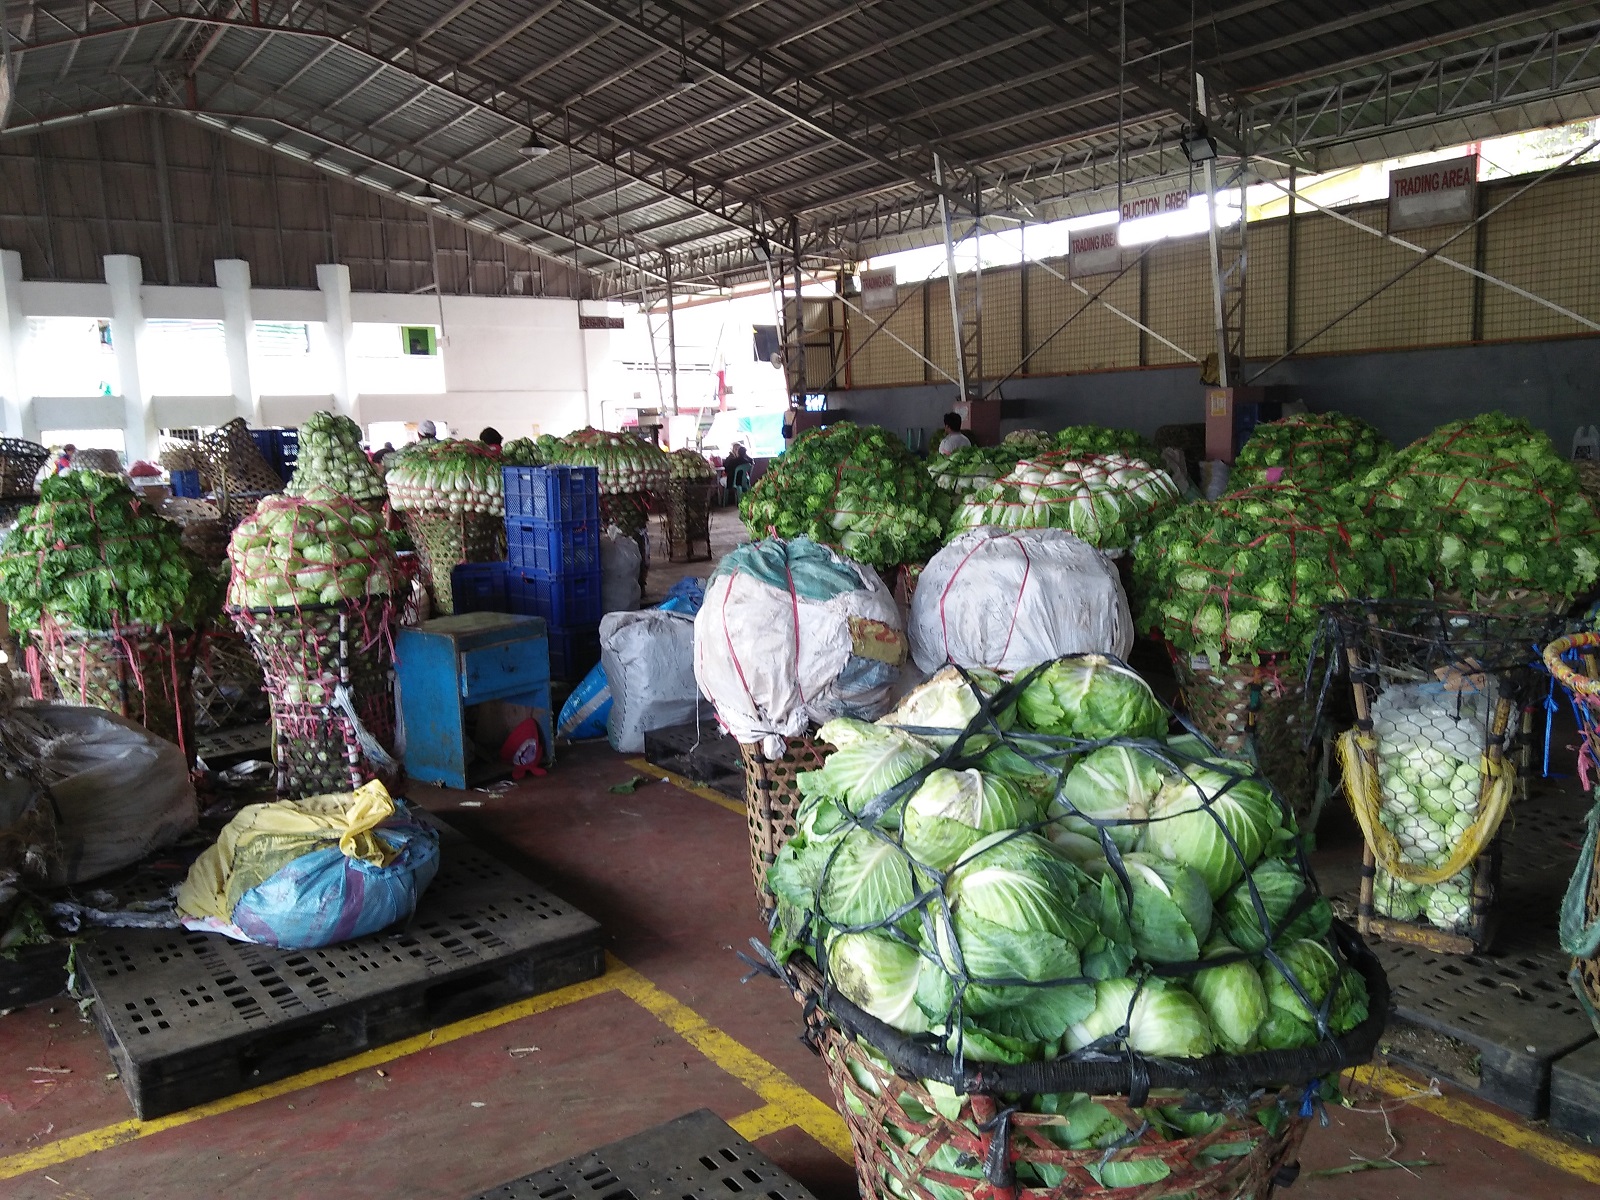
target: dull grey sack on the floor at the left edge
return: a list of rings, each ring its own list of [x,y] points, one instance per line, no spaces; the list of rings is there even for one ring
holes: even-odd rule
[[[198,824],[184,752],[144,726],[67,704],[16,709],[6,722],[54,802],[53,885],[126,867]]]

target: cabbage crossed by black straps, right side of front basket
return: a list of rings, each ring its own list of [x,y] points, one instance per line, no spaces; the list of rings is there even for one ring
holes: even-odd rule
[[[1141,848],[1198,870],[1216,899],[1256,864],[1282,819],[1266,781],[1190,765],[1187,778],[1170,779],[1155,794]]]

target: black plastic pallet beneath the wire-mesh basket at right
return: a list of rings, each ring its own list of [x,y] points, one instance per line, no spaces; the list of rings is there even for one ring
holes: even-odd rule
[[[1552,1064],[1595,1038],[1566,982],[1571,957],[1555,931],[1582,819],[1571,794],[1539,784],[1512,805],[1488,950],[1373,946],[1394,994],[1389,1058],[1525,1117],[1549,1110]]]

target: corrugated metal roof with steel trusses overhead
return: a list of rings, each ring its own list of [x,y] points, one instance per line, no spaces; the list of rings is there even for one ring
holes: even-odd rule
[[[976,189],[989,208],[1027,203],[1038,219],[1098,203],[1106,171],[1115,182],[1118,133],[1133,147],[1123,184],[1154,186],[1184,170],[1176,142],[1195,66],[1218,98],[1214,123],[1237,120],[1258,144],[1310,165],[1378,154],[1429,120],[1458,131],[1499,114],[1498,131],[1600,93],[1600,64],[1578,37],[1600,32],[1600,3],[362,8],[270,6],[262,29],[152,14],[136,0],[13,5],[10,123],[115,106],[194,110],[371,186],[408,195],[432,186],[443,211],[568,259],[576,245],[584,267],[637,288],[661,282],[667,254],[688,251],[749,272],[752,232],[782,242],[790,222],[802,240],[853,253],[931,242],[936,154],[954,200]],[[1358,102],[1386,80],[1421,88],[1434,109],[1392,107],[1386,126]],[[1285,107],[1286,98],[1310,99]],[[530,128],[560,149],[518,154]]]

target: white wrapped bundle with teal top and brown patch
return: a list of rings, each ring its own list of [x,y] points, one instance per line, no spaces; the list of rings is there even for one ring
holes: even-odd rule
[[[768,758],[834,717],[877,720],[906,664],[894,597],[870,566],[808,538],[741,546],[694,618],[694,675],[717,717]]]

